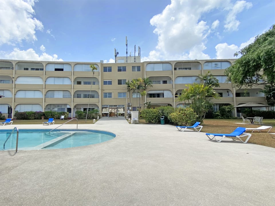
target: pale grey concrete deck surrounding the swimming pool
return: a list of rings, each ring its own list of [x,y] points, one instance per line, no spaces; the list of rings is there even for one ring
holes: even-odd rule
[[[0,129],[15,126],[58,124]],[[117,136],[76,148],[0,151],[0,204],[274,205],[274,148],[124,118],[78,128]]]

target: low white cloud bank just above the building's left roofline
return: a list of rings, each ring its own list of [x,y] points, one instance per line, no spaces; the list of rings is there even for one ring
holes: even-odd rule
[[[19,48],[14,48],[10,54],[4,51],[0,51],[0,59],[11,59],[11,60],[34,60],[34,61],[63,61],[58,59],[56,54],[50,55],[43,53],[39,56],[36,54],[34,49],[30,48],[27,50],[20,50]]]

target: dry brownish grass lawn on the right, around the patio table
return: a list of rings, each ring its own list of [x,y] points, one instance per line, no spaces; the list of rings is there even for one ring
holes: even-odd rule
[[[242,119],[204,119],[201,132],[229,134],[237,127],[257,128],[262,126],[260,124],[237,124],[242,122]],[[145,120],[140,119],[140,123],[145,123]],[[274,119],[264,119],[263,123],[265,126],[272,126],[270,133],[275,133]],[[275,148],[275,134],[269,134],[267,131],[268,130],[262,132],[254,131],[253,133],[247,132],[252,134],[248,142]],[[205,138],[207,138],[207,136],[205,136]]]

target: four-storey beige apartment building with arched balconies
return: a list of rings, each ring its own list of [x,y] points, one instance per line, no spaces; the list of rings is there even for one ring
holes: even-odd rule
[[[117,57],[117,63],[112,64],[0,60],[0,111],[7,118],[13,118],[16,110],[64,111],[72,118],[76,110],[85,111],[89,105],[89,110],[97,108],[102,117],[124,117],[149,101],[152,107],[184,107],[188,105],[178,102],[177,95],[186,84],[200,83],[196,77],[208,71],[221,86],[215,88],[222,97],[213,99],[215,111],[224,104],[266,104],[264,93],[260,92],[262,86],[239,89],[225,83],[224,70],[234,59],[154,62],[140,62],[140,56],[125,59]],[[98,69],[94,76],[91,64]],[[149,78],[153,82],[143,98],[129,92],[125,85],[137,78]],[[239,116],[237,110],[235,116]]]

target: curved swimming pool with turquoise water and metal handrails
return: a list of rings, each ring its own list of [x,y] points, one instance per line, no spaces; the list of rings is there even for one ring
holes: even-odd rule
[[[101,130],[88,129],[19,129],[18,150],[62,149],[106,142],[115,134]],[[0,150],[15,150],[16,131],[3,144],[11,130],[0,130]]]

